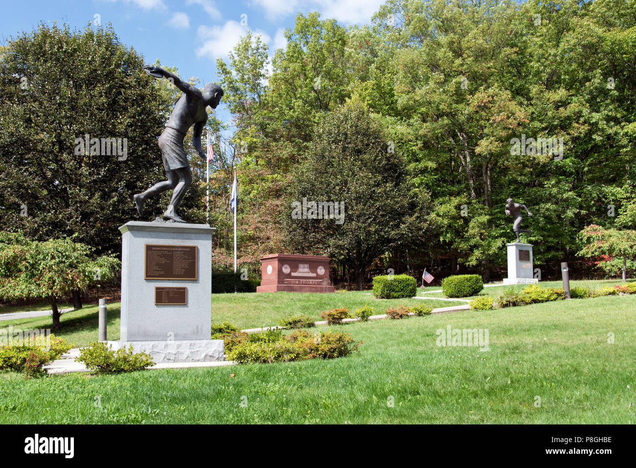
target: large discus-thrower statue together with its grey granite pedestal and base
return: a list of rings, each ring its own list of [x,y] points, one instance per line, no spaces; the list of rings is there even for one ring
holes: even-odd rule
[[[130,221],[121,231],[120,341],[113,349],[146,351],[156,364],[225,359],[223,340],[210,339],[212,327],[212,232],[207,224],[186,223],[177,208],[192,177],[183,147],[194,125],[192,143],[200,157],[205,108],[216,108],[223,90],[207,83],[203,90],[183,82],[162,67],[146,65],[156,78],[167,78],[183,94],[159,138],[167,180],[134,195],[139,215],[144,201],[172,189],[172,199],[155,222]]]

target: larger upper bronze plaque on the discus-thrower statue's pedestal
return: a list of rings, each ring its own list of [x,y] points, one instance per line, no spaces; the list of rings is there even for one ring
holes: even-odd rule
[[[196,280],[196,245],[146,244],[145,280]]]

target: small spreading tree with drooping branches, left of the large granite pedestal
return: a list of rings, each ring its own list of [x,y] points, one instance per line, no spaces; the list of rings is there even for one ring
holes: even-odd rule
[[[93,250],[69,238],[31,241],[22,232],[0,232],[0,297],[45,298],[53,311],[53,329],[59,328],[60,299],[113,278],[120,269],[114,256],[92,258]]]

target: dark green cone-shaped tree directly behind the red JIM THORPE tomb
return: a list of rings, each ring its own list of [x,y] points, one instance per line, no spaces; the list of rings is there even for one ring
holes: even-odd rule
[[[317,216],[311,208],[305,215],[303,206],[312,202],[338,211],[327,217],[318,204]],[[322,118],[310,157],[294,173],[287,207],[289,249],[327,254],[351,267],[360,290],[371,263],[408,245],[424,223],[404,161],[391,152],[377,118],[354,100]]]

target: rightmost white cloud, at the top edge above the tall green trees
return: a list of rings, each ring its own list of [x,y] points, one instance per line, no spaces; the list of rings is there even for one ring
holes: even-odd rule
[[[319,11],[321,18],[335,18],[343,24],[368,23],[384,0],[251,0],[252,5],[265,10],[270,20],[285,18],[291,13]]]

